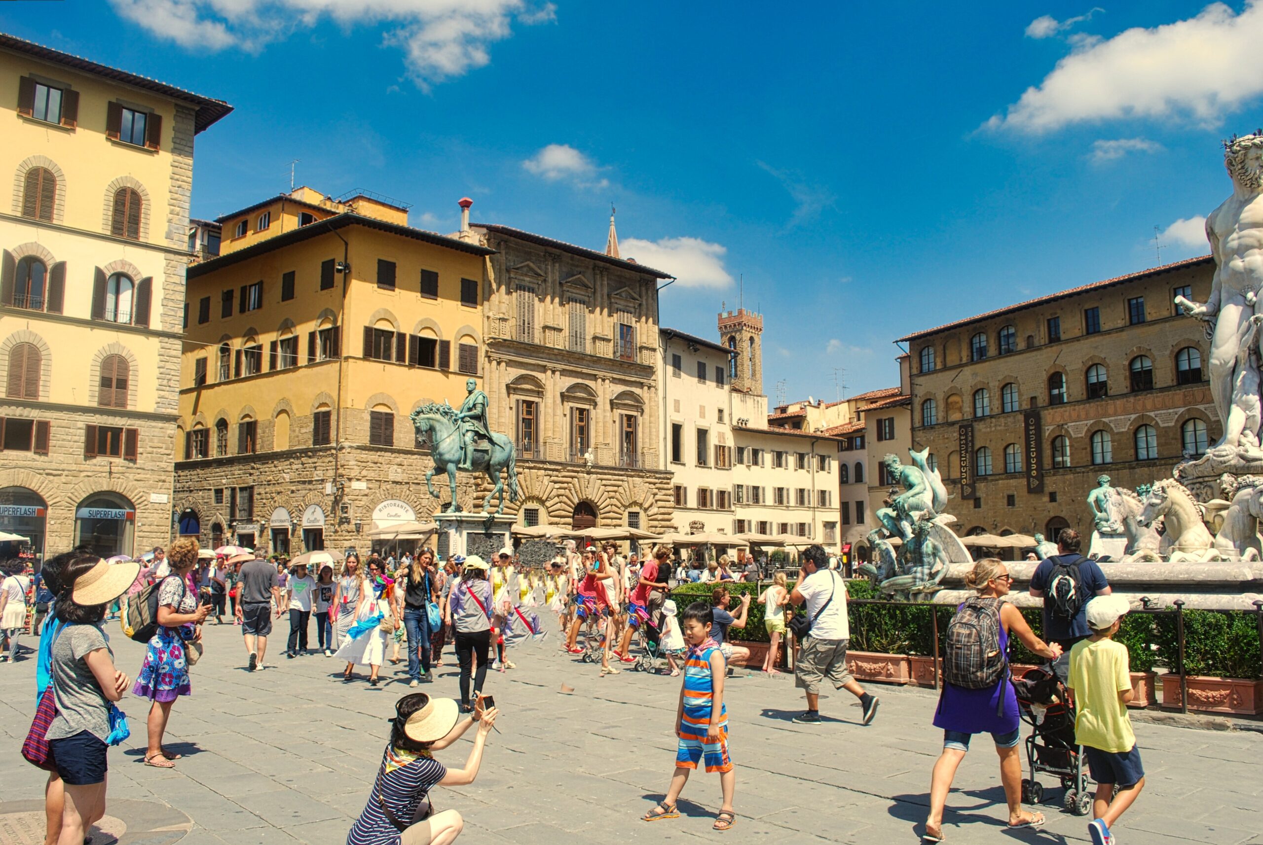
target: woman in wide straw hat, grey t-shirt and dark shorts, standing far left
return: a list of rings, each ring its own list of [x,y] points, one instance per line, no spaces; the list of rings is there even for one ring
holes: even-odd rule
[[[64,788],[61,842],[85,841],[105,815],[110,702],[119,701],[131,681],[115,668],[101,623],[106,605],[128,592],[139,571],[140,564],[110,565],[86,550],[75,552],[61,571],[57,621],[66,627],[51,650],[57,716],[45,734]]]

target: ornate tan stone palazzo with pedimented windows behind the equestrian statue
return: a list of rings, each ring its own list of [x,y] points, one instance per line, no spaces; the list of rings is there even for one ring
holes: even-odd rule
[[[508,226],[467,235],[495,251],[482,279],[486,393],[493,429],[518,444],[519,522],[669,530],[657,372],[669,276],[619,257],[613,223],[606,252]]]

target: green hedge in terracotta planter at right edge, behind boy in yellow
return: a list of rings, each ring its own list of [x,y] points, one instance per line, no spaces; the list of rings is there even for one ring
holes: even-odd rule
[[[1158,626],[1159,655],[1168,667],[1162,676],[1162,706],[1178,708],[1180,643],[1173,618]],[[1263,711],[1263,665],[1253,613],[1185,610],[1185,681],[1188,709],[1204,713],[1258,715]],[[1133,658],[1134,660],[1134,658]]]

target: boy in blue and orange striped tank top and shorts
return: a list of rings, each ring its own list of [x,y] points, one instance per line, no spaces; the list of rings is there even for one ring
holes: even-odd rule
[[[719,644],[711,638],[715,614],[706,602],[695,602],[685,608],[681,627],[688,655],[685,658],[685,682],[679,690],[676,709],[676,772],[671,788],[645,821],[678,819],[676,801],[688,782],[688,773],[705,762],[707,772],[719,772],[724,806],[715,819],[715,830],[727,830],[736,822],[733,813],[733,792],[736,788],[736,771],[727,755],[727,709],[724,706],[724,675],[726,666]]]

